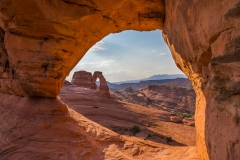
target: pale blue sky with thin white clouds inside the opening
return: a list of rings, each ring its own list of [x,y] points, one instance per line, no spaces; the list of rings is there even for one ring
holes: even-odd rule
[[[123,31],[96,43],[71,71],[102,71],[107,81],[118,82],[155,74],[182,74],[176,67],[160,30]]]

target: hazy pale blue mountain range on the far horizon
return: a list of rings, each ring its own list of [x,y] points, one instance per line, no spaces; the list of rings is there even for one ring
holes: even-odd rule
[[[122,83],[139,83],[140,81],[149,81],[149,80],[162,80],[162,79],[176,79],[176,78],[187,78],[184,74],[157,74],[148,78],[138,79],[138,80],[127,80],[120,82],[112,82],[114,84]]]

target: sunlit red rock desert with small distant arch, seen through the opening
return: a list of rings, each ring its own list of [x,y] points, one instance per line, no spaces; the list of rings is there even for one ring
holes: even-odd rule
[[[99,86],[93,78],[95,73],[100,77]],[[131,87],[116,90],[106,86],[107,81],[101,72],[95,73],[92,76],[86,71],[75,72],[72,83],[65,81],[59,94],[60,100],[120,136],[135,137],[136,142],[165,146],[167,149],[186,150],[187,153],[181,154],[179,159],[197,159],[193,118],[195,93],[186,78],[160,80],[160,84],[149,84],[148,88],[139,90]],[[132,85],[136,86],[135,83]],[[148,159],[141,153],[132,154],[134,156],[129,155],[133,156],[132,159]],[[166,159],[175,154],[177,152],[165,155]],[[121,158],[124,159],[118,157]]]

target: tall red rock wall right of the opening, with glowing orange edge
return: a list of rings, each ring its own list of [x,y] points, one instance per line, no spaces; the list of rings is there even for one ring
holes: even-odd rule
[[[240,3],[166,1],[163,37],[197,94],[200,159],[240,158]]]

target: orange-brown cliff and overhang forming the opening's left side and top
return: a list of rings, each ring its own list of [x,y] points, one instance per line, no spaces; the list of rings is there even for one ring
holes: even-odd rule
[[[96,42],[127,29],[162,29],[164,20],[163,1],[1,0],[0,6],[0,91],[20,96],[55,98]]]

